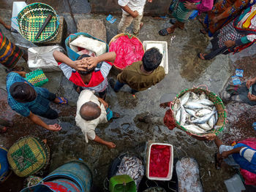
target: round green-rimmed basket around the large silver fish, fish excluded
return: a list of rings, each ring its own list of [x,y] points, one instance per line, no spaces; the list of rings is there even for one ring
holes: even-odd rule
[[[218,112],[218,120],[217,120],[217,123],[215,124],[215,126],[219,126],[219,128],[213,129],[210,132],[208,132],[207,134],[194,134],[194,133],[191,133],[191,132],[187,131],[187,129],[184,128],[184,126],[181,126],[181,124],[178,123],[178,121],[176,121],[176,127],[181,129],[182,131],[185,131],[187,134],[189,134],[190,136],[192,136],[192,137],[194,137],[195,139],[198,139],[198,140],[205,140],[208,134],[216,134],[217,135],[220,132],[222,132],[223,128],[225,128],[225,125],[226,125],[227,110],[225,110],[225,106],[222,102],[222,99],[220,99],[219,96],[217,96],[215,93],[212,93],[211,91],[208,91],[207,86],[206,86],[206,89],[200,88],[198,86],[197,88],[189,88],[189,89],[185,89],[184,91],[181,91],[181,93],[178,93],[176,95],[176,98],[170,104],[171,105],[170,108],[173,110],[173,105],[176,103],[177,99],[180,98],[181,96],[183,96],[184,93],[187,93],[189,91],[194,92],[194,93],[203,93],[204,92],[204,93],[206,93],[206,96],[208,96],[208,99],[210,101],[214,102],[215,107],[216,107],[217,112]],[[174,113],[173,113],[173,117],[175,118]]]

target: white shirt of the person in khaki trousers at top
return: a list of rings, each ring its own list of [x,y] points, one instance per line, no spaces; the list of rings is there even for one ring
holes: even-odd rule
[[[146,4],[146,0],[118,0],[118,4],[121,7],[128,6],[133,12],[138,11],[139,15],[143,15],[143,9]],[[129,15],[128,12],[122,9],[124,14]]]

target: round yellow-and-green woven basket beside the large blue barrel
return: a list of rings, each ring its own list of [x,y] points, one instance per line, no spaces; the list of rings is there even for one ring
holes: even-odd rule
[[[23,137],[10,147],[7,158],[13,172],[26,177],[48,165],[50,148],[37,137]]]

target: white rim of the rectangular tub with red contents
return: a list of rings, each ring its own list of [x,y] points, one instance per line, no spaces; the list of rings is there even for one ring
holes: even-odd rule
[[[170,161],[169,161],[169,172],[167,174],[167,177],[150,177],[149,176],[149,165],[150,165],[150,156],[151,156],[151,146],[152,145],[165,145],[170,146]],[[167,144],[167,143],[159,143],[154,142],[148,145],[148,155],[146,155],[146,177],[148,177],[148,180],[171,180],[173,177],[173,145]]]

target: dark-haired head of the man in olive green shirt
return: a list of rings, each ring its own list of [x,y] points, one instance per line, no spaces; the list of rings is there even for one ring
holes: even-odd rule
[[[159,64],[161,64],[162,61],[162,54],[159,52],[159,50],[156,47],[152,47],[149,50],[146,50],[146,52],[143,55],[142,62],[143,62],[143,68],[147,72],[151,72],[154,69],[157,69]]]

